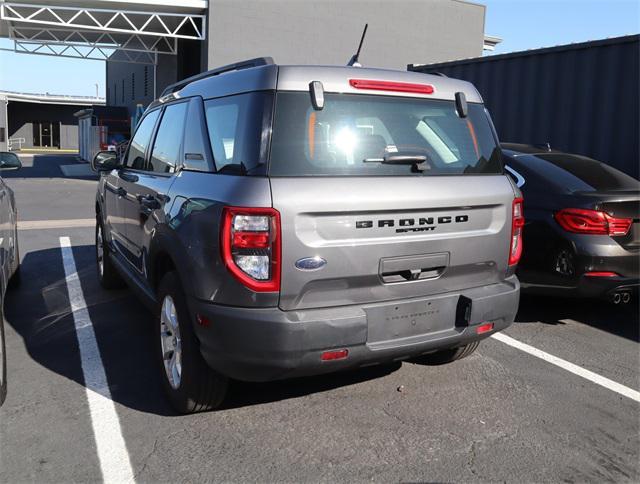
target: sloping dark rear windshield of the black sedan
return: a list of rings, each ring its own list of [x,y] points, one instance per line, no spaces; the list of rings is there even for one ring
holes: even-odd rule
[[[596,191],[638,189],[638,181],[635,178],[586,156],[565,153],[536,154],[535,156],[568,171]],[[583,190],[586,188],[580,187]]]

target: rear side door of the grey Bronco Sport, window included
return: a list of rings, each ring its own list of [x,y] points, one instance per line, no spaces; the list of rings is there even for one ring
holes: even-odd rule
[[[187,100],[164,108],[147,162],[127,187],[127,238],[132,247],[131,261],[140,273],[144,272],[150,234],[156,224],[165,222],[164,207],[170,201],[167,194],[182,158],[188,105]]]

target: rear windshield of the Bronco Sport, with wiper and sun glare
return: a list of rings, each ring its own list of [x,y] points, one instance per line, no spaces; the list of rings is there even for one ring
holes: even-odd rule
[[[424,162],[398,164],[401,156]],[[453,101],[325,94],[321,111],[307,92],[280,92],[271,138],[272,176],[422,176],[502,173],[484,108]]]

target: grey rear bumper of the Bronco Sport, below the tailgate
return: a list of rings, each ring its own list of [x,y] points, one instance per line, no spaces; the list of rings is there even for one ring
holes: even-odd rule
[[[207,327],[196,324],[195,328],[202,355],[212,368],[238,380],[269,381],[402,360],[485,338],[513,322],[519,295],[519,282],[512,276],[498,284],[432,297],[313,310],[238,308],[195,299],[189,304],[194,319],[200,314],[210,321]],[[372,315],[391,307],[431,303],[432,307],[453,308],[453,314],[447,311],[444,315],[446,327],[428,328],[426,317],[421,323],[427,325],[424,334],[372,341],[381,328],[383,334],[391,334],[388,325],[397,325],[374,321]],[[412,317],[402,315],[403,323],[411,324]],[[494,324],[493,331],[478,335],[476,327],[487,322]],[[332,349],[347,349],[348,357],[321,361],[322,353]]]

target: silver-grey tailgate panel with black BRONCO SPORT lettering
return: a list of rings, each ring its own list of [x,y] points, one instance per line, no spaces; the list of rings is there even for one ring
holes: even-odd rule
[[[283,310],[440,294],[505,276],[514,193],[503,175],[273,177],[271,189]],[[326,265],[296,268],[308,257]],[[385,282],[383,267],[424,272]]]

